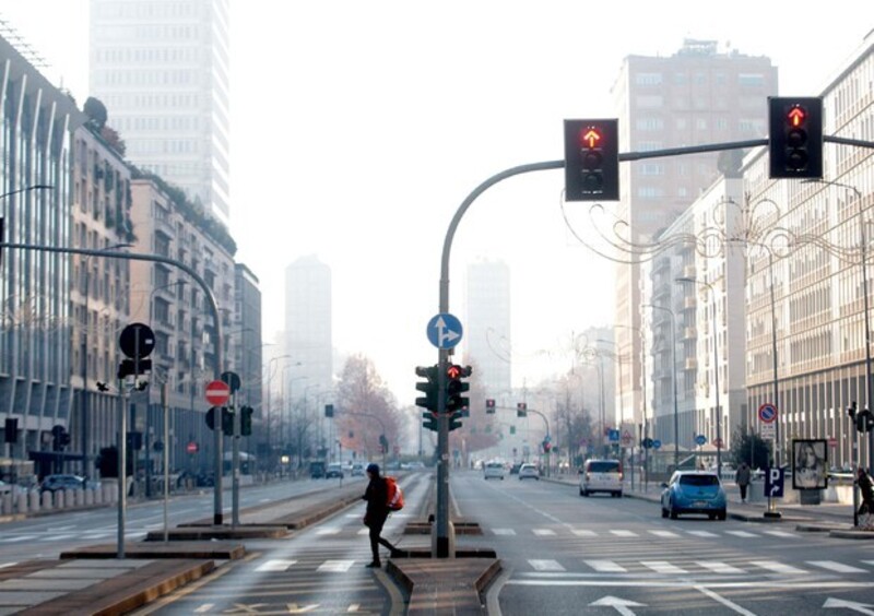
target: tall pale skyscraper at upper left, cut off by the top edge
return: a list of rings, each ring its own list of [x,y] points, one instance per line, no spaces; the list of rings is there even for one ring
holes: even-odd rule
[[[90,61],[126,157],[227,225],[227,0],[91,0]]]

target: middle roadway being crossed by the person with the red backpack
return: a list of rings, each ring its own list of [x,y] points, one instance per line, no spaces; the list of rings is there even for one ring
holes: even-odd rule
[[[403,547],[429,538],[402,536],[427,495],[433,473],[401,481],[404,510],[392,513],[383,536]],[[362,494],[365,484],[362,482]],[[367,569],[370,545],[362,524],[365,504],[283,540],[247,541],[247,557],[135,614],[402,614],[403,597],[383,570]],[[388,550],[382,548],[383,565]]]

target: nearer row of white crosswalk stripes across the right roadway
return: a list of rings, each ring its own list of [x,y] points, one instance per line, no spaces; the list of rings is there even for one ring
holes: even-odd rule
[[[724,562],[720,560],[605,560],[574,559],[558,560],[530,559],[528,565],[538,573],[660,573],[664,576],[696,576],[714,573],[720,576],[778,574],[805,576],[824,571],[831,573],[872,574],[874,560],[847,564],[837,560],[805,560],[792,565],[780,560],[745,560]],[[863,568],[867,566],[869,568]],[[524,571],[521,571],[524,573]]]

